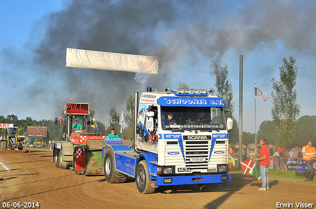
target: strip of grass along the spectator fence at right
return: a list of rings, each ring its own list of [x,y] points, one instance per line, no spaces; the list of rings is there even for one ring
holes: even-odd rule
[[[258,168],[258,170],[259,170],[259,168]],[[240,166],[233,166],[231,173],[241,173],[242,174],[241,167]],[[269,169],[268,176],[269,176],[269,178],[272,178],[272,179],[305,182],[304,177],[303,176],[296,176],[295,171]],[[315,173],[312,176],[312,182],[308,182],[308,183],[315,183],[316,184],[316,174]]]

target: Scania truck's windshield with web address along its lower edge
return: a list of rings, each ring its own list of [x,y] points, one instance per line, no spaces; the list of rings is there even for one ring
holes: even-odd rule
[[[221,107],[161,106],[162,129],[223,130],[226,128]]]

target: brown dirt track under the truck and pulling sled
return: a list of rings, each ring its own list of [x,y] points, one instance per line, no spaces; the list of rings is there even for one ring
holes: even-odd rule
[[[261,180],[233,174],[232,182],[215,192],[188,185],[143,195],[133,179],[110,184],[104,176],[77,176],[56,168],[52,152],[28,150],[0,151],[0,208],[3,202],[38,202],[40,209],[275,209],[277,202],[291,203],[294,209],[296,202],[313,203],[316,208],[316,185],[308,182],[270,179],[271,189],[258,191]]]

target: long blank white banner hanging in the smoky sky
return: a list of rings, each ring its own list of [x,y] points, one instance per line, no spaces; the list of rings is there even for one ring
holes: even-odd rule
[[[67,48],[66,67],[158,74],[158,57]]]

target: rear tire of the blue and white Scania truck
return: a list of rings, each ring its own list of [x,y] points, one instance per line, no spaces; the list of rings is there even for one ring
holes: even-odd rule
[[[105,179],[109,183],[122,183],[127,179],[127,176],[125,174],[118,173],[115,170],[115,158],[112,149],[108,149],[105,154],[103,169]]]

